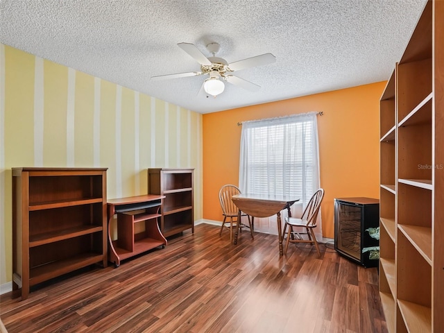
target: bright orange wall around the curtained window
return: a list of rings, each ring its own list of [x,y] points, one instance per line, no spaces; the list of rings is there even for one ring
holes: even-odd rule
[[[379,98],[385,82],[203,114],[203,219],[222,221],[219,189],[239,182],[238,122],[310,111],[318,116],[323,236],[334,237],[334,198],[379,198]]]

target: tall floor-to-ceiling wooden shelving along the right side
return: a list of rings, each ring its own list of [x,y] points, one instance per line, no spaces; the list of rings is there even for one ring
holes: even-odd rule
[[[380,101],[379,295],[389,332],[444,332],[444,1]]]

